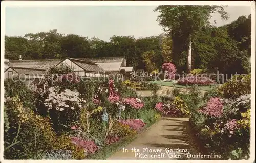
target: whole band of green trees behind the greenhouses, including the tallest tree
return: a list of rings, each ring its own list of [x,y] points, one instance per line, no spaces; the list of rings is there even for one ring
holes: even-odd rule
[[[112,36],[109,41],[75,34],[64,35],[56,29],[28,33],[24,37],[5,36],[5,58],[50,59],[114,57],[126,58],[127,66],[152,71],[172,62],[178,72],[186,70],[188,34],[191,34],[193,68],[220,73],[250,72],[251,16],[240,16],[225,26],[209,24],[212,12],[226,19],[223,7],[159,6],[159,24],[165,33],[135,38]],[[203,13],[203,14],[202,14]]]

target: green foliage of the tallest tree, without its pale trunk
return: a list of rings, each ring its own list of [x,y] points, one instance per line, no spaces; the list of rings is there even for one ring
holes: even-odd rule
[[[157,21],[172,37],[172,59],[178,69],[185,69],[186,53],[189,42],[194,42],[195,37],[203,27],[210,24],[211,13],[218,12],[222,19],[227,19],[228,14],[223,6],[158,6]]]

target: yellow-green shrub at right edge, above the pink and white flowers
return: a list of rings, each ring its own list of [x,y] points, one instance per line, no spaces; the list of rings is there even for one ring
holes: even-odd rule
[[[250,94],[251,75],[236,75],[230,81],[218,88],[218,92],[223,98],[238,98],[244,94]]]

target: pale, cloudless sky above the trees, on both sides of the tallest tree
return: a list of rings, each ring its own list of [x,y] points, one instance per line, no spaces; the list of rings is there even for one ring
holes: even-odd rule
[[[132,35],[135,38],[161,34],[162,27],[156,21],[156,6],[62,6],[62,7],[6,7],[5,34],[24,36],[26,33],[47,32],[97,37],[109,41],[113,35]],[[228,6],[230,18],[221,20],[218,14],[216,26],[236,20],[251,13],[249,6]]]

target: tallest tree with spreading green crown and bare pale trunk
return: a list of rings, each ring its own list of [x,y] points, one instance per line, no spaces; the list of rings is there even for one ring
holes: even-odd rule
[[[224,20],[228,14],[223,6],[158,6],[154,11],[160,12],[157,21],[175,42],[175,35],[184,36],[187,49],[187,71],[192,66],[192,43],[202,27],[210,24],[212,13],[219,13]],[[175,48],[175,47],[174,47]],[[179,54],[174,54],[179,55]]]

